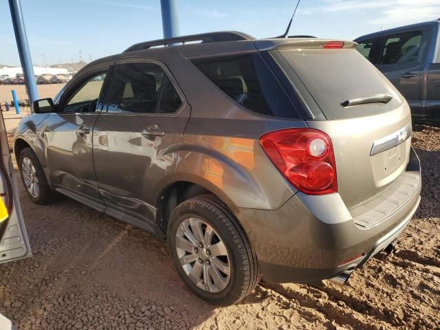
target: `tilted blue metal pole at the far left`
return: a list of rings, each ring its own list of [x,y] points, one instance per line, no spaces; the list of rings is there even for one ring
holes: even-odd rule
[[[26,35],[20,0],[9,0],[9,7],[12,24],[14,25],[15,40],[17,41],[17,47],[19,49],[20,63],[25,76],[26,89],[28,90],[29,103],[32,109],[32,102],[39,99],[39,92],[36,89],[34,67],[32,66],[32,58],[30,57],[28,36]]]

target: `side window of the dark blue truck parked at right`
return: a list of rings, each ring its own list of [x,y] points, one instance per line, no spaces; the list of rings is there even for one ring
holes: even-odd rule
[[[387,36],[380,64],[405,64],[418,61],[426,47],[422,43],[422,30],[402,32]]]

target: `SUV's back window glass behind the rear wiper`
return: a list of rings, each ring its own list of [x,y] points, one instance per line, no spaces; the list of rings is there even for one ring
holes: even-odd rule
[[[386,78],[356,50],[294,50],[274,51],[282,56],[300,78],[322,113],[329,120],[364,117],[395,109],[403,100]],[[343,107],[342,102],[391,94],[386,104],[371,103]]]

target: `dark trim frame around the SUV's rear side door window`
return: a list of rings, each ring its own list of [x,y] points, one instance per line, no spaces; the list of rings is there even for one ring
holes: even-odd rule
[[[106,93],[105,94],[105,99],[103,102],[103,107],[102,110],[100,111],[101,115],[142,115],[142,116],[151,116],[151,117],[177,117],[177,115],[179,115],[181,113],[181,111],[183,111],[183,109],[186,107],[186,104],[188,104],[188,101],[186,100],[185,94],[184,92],[181,90],[179,84],[177,83],[177,80],[174,78],[173,74],[171,74],[170,69],[168,69],[168,67],[165,65],[165,63],[161,62],[161,61],[157,61],[154,60],[153,58],[123,58],[121,60],[115,61],[112,65],[112,69],[111,69],[111,81],[109,82],[108,85],[108,89],[109,91],[111,90],[111,88],[113,87],[113,82],[115,80],[115,72],[117,69],[117,65],[119,64],[127,64],[127,63],[152,63],[155,65],[159,65],[159,67],[162,68],[162,70],[164,70],[164,74],[166,74],[166,76],[168,77],[168,79],[170,80],[171,85],[173,85],[174,89],[177,91],[177,94],[179,95],[179,98],[181,100],[181,104],[180,107],[172,113],[163,113],[163,112],[155,112],[155,113],[140,113],[140,112],[108,112],[107,111],[107,107],[109,104],[109,94],[110,93]],[[164,78],[162,78],[162,83],[163,83]],[[162,86],[161,86],[162,88]],[[162,91],[160,96],[162,96]],[[156,106],[157,109],[159,109],[159,101],[158,100]]]

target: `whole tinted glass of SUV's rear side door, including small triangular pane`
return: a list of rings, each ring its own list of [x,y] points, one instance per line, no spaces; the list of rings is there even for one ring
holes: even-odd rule
[[[162,67],[155,63],[122,63],[115,67],[115,77],[108,101],[113,113],[173,113],[181,98]]]

